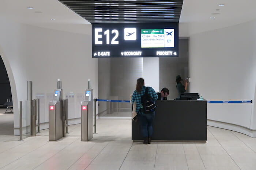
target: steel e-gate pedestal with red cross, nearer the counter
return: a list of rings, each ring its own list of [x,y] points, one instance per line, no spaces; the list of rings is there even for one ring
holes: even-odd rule
[[[81,141],[89,141],[91,138],[93,138],[93,90],[87,89],[84,92],[84,101],[81,102]]]

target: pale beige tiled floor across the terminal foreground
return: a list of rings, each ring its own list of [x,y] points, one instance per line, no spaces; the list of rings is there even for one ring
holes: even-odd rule
[[[207,127],[206,143],[131,140],[130,120],[97,120],[97,133],[80,141],[80,124],[69,126],[67,137],[48,141],[38,137],[14,141],[0,135],[0,169],[86,170],[256,170],[256,138]]]

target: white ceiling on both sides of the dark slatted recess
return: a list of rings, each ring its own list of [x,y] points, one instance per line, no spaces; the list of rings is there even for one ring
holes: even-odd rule
[[[218,4],[225,6],[219,7]],[[256,18],[255,9],[256,0],[184,0],[180,36],[251,21]],[[37,11],[42,13],[35,13]],[[210,19],[212,16],[215,19]],[[0,0],[0,17],[43,28],[90,34],[87,31],[90,23],[58,0]],[[52,18],[56,20],[50,20]]]

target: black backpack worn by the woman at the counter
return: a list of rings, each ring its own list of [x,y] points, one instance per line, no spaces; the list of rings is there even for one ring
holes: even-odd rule
[[[148,87],[146,87],[146,91],[145,94],[143,96],[141,96],[141,103],[142,103],[142,112],[143,113],[152,113],[153,111],[155,111],[155,102],[154,100],[151,98],[150,94],[148,94]]]

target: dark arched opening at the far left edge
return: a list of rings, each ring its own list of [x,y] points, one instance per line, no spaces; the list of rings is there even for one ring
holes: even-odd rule
[[[0,56],[0,135],[14,135],[14,114],[9,77]]]

